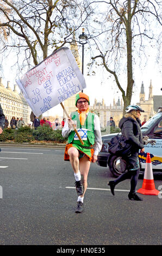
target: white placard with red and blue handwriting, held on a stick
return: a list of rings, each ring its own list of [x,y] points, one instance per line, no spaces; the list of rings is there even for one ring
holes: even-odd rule
[[[86,87],[72,52],[60,48],[16,80],[36,116]]]

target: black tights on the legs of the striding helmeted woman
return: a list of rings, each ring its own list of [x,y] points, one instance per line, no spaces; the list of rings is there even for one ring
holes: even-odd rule
[[[123,173],[117,179],[114,180],[115,185],[123,180],[130,179],[130,193],[135,193],[136,184],[138,182],[140,169],[128,170],[127,173]]]

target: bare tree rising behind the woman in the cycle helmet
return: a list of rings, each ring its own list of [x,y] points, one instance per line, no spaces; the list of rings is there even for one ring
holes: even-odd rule
[[[91,2],[95,9],[96,26],[87,26],[87,29],[89,34],[93,34],[92,39],[98,51],[98,54],[94,53],[92,56],[91,64],[98,64],[99,59],[102,60],[101,65],[114,76],[122,93],[124,109],[130,105],[132,99],[137,54],[147,58],[146,46],[151,44],[151,41],[154,41],[154,44],[157,42],[160,47],[161,3],[157,0]],[[102,13],[96,12],[97,5],[103,10]],[[124,66],[127,70],[127,86],[124,81],[120,81]]]

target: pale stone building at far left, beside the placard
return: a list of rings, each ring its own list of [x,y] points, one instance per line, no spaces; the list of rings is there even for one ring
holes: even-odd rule
[[[22,117],[24,123],[29,124],[31,109],[22,93],[19,94],[17,92],[16,87],[17,85],[14,84],[14,90],[12,90],[8,81],[5,88],[2,83],[2,77],[0,77],[0,103],[3,113],[7,116],[9,123],[12,117]]]

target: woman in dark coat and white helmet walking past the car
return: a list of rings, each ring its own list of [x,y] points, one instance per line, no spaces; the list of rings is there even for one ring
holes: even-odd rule
[[[140,172],[140,164],[138,153],[139,149],[141,152],[144,152],[144,141],[142,139],[142,133],[140,130],[140,112],[144,112],[138,105],[130,105],[126,108],[126,115],[120,120],[119,127],[121,128],[122,135],[132,143],[132,154],[124,159],[127,162],[128,172],[123,173],[117,179],[109,181],[108,185],[110,186],[111,193],[114,195],[115,186],[126,179],[130,178],[130,192],[128,198],[130,200],[141,201],[140,198],[135,193],[136,184],[138,182],[138,176]]]

